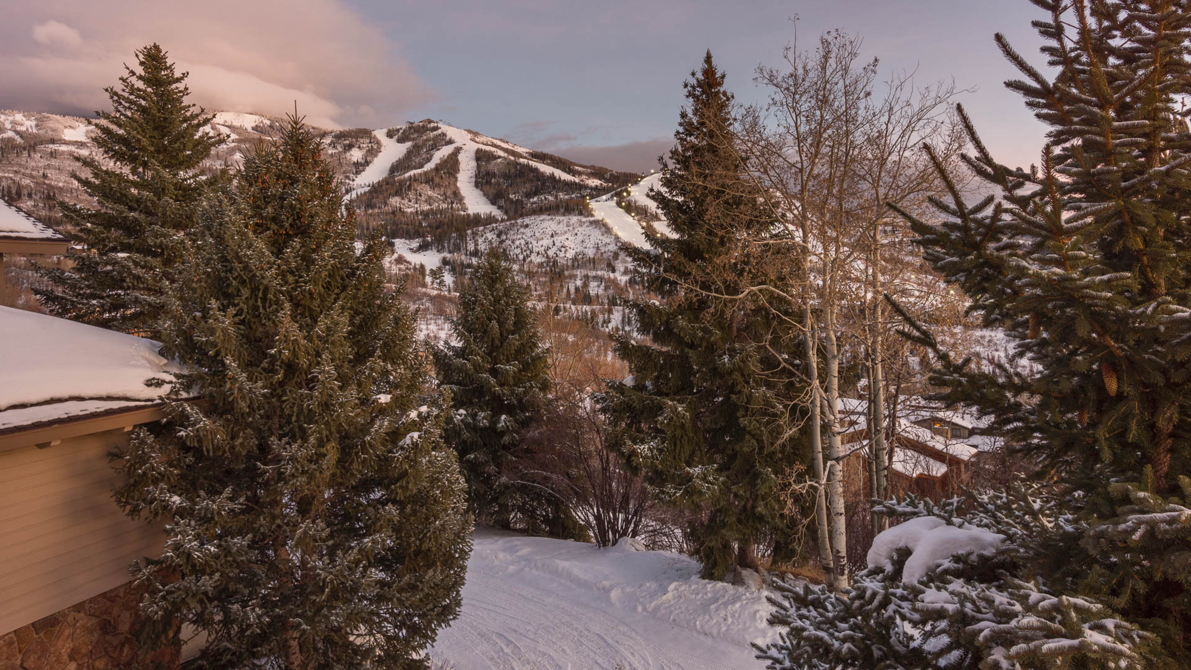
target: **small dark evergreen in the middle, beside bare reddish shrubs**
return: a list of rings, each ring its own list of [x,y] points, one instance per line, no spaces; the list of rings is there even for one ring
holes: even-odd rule
[[[536,489],[507,477],[522,433],[549,389],[548,349],[528,300],[512,267],[490,249],[459,292],[451,322],[457,342],[435,350],[439,385],[455,409],[447,441],[459,452],[473,509],[505,528],[545,521],[532,513],[535,501],[542,502]]]

